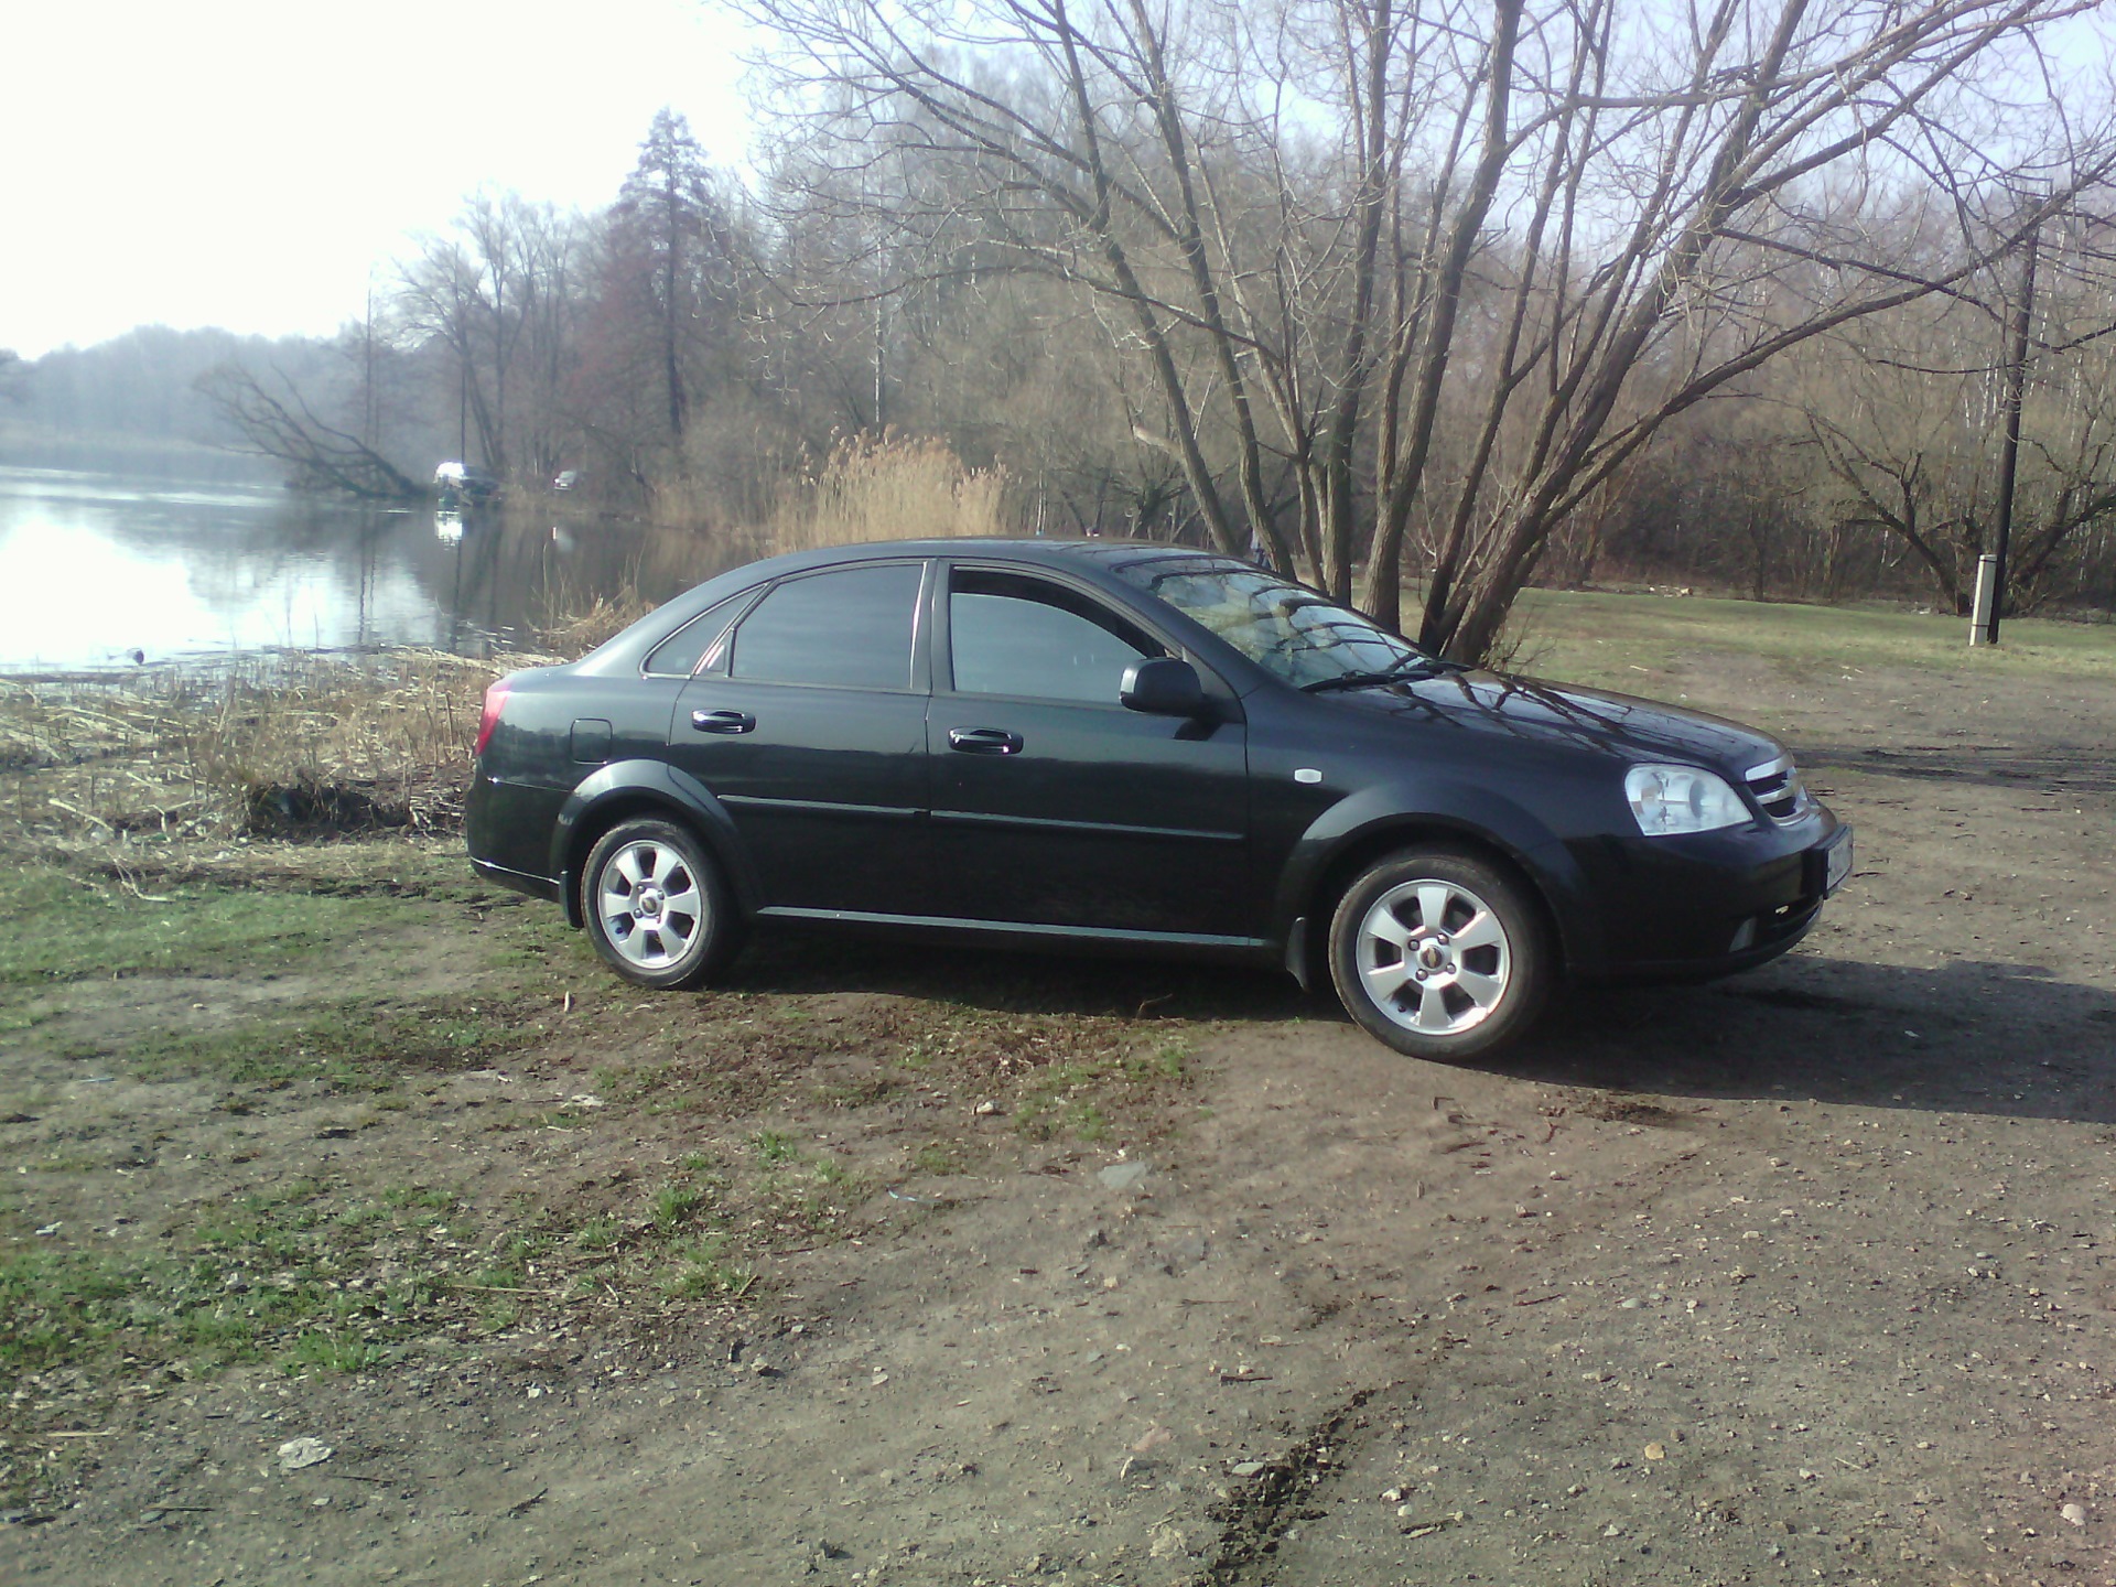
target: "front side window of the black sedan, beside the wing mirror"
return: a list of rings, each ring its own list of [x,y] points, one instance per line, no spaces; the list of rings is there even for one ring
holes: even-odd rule
[[[1162,647],[1117,614],[1058,584],[959,567],[948,580],[948,643],[961,694],[1115,705],[1124,673]]]

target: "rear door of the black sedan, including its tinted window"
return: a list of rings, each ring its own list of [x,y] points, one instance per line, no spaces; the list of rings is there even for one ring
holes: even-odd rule
[[[766,908],[925,912],[925,578],[781,580],[677,696],[669,758],[728,808]]]

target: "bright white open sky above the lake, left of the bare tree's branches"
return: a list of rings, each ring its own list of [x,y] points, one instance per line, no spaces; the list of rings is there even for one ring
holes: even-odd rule
[[[0,28],[0,347],[328,334],[480,182],[597,207],[660,106],[741,159],[698,0],[19,0]]]

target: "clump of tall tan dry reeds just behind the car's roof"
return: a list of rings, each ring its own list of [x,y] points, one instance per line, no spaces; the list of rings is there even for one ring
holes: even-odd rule
[[[772,514],[774,550],[868,540],[1007,535],[1001,470],[963,468],[940,440],[851,436]]]

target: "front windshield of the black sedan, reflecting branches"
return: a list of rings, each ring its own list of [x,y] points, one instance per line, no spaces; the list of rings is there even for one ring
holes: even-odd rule
[[[1424,656],[1371,618],[1261,567],[1219,557],[1138,557],[1111,571],[1297,688],[1409,671]]]

